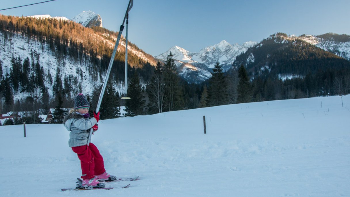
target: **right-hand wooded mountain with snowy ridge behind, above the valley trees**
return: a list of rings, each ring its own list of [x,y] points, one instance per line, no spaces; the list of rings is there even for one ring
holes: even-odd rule
[[[339,39],[344,37],[344,39]],[[233,68],[244,65],[254,76],[303,78],[321,70],[350,67],[350,36],[334,33],[319,36],[287,36],[276,33],[236,57]]]

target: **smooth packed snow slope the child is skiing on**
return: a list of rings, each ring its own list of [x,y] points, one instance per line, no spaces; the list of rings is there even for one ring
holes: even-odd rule
[[[102,120],[107,171],[141,178],[112,190],[61,191],[81,176],[63,125],[26,125],[26,138],[1,126],[0,196],[350,196],[349,108],[350,95]]]

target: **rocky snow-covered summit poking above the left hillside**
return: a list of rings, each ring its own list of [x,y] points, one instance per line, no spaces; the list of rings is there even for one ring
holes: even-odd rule
[[[84,11],[71,19],[82,24],[84,27],[102,27],[102,18],[99,14],[91,11]]]

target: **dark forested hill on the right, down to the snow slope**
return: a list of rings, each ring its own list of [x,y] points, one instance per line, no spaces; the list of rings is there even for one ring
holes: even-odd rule
[[[254,101],[350,93],[350,62],[298,38],[277,33],[237,56],[252,79]]]

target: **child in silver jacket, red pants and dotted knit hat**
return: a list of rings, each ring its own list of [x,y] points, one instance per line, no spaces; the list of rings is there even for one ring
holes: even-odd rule
[[[70,131],[69,147],[72,147],[73,152],[78,154],[81,168],[83,171],[82,179],[83,186],[104,187],[102,181],[115,180],[115,176],[110,176],[105,168],[103,157],[97,147],[90,143],[87,146],[89,138],[89,130],[93,128],[93,132],[98,129],[97,122],[100,113],[93,112],[93,118],[89,118],[89,102],[82,93],[75,97],[74,108],[69,111],[69,114],[64,118],[63,124]]]

